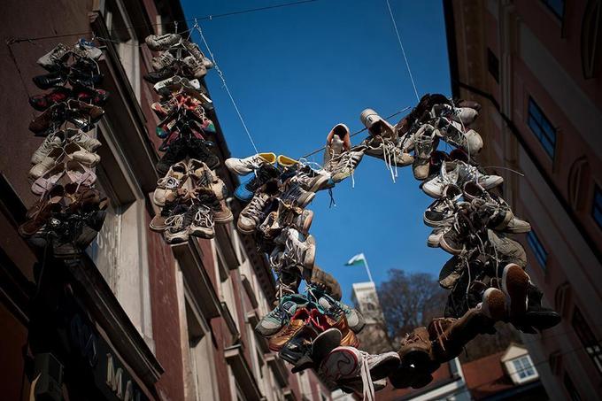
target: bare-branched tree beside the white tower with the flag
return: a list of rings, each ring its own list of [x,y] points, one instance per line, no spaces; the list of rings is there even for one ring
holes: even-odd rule
[[[378,286],[387,330],[394,343],[414,328],[443,316],[447,294],[431,274],[391,269],[389,280]]]

